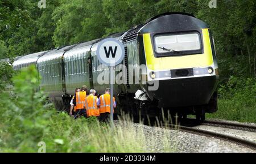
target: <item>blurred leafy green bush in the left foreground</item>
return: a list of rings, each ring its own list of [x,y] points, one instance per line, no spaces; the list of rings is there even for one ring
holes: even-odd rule
[[[46,112],[49,105],[43,103],[43,93],[36,92],[37,77],[35,66],[26,68],[13,77],[13,96],[1,93],[0,148],[7,146],[30,152],[36,148],[34,143],[39,142],[47,131],[47,119],[51,113]]]

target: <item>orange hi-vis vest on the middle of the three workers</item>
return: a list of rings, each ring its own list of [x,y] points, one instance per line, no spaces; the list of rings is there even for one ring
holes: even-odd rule
[[[87,116],[99,116],[100,111],[97,107],[97,96],[89,95],[85,98],[85,108]]]

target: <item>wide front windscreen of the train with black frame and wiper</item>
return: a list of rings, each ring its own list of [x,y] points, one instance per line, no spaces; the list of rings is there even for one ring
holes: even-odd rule
[[[156,34],[153,38],[156,57],[203,53],[198,32]]]

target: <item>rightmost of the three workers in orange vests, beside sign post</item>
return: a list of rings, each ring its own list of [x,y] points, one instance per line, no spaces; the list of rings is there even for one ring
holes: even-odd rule
[[[97,101],[97,105],[100,107],[100,121],[108,121],[110,115],[110,89],[106,88],[105,94],[102,94]],[[117,107],[115,98],[113,97],[113,107]]]

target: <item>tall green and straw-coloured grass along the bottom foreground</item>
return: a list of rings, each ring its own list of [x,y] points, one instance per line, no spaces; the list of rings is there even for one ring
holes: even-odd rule
[[[51,116],[47,124],[41,125],[43,128],[27,131],[18,131],[15,127],[3,128],[8,131],[0,132],[0,152],[38,152],[40,141],[46,143],[46,152],[155,152],[158,151],[159,140],[161,152],[175,151],[175,145],[169,141],[170,132],[162,128],[151,130],[148,135],[148,130],[144,130],[143,126],[134,126],[130,119],[120,120],[112,128],[94,117],[74,120],[67,113],[55,109],[48,112]],[[40,122],[36,124],[39,126]],[[19,140],[13,137],[15,135],[19,136]],[[32,139],[33,135],[36,139]]]

